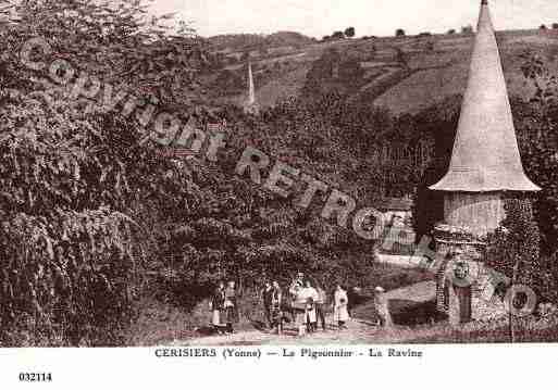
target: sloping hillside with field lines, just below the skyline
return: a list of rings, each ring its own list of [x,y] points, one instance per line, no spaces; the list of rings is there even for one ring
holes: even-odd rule
[[[520,54],[526,50],[537,52],[548,60],[551,70],[558,70],[558,30],[501,32],[497,36],[510,96],[532,96],[521,74]],[[276,42],[271,37],[262,38],[261,42]],[[249,55],[255,68],[257,99],[262,106],[300,95],[317,61],[333,50],[338,60],[333,60],[328,75],[320,75],[321,88],[363,96],[397,114],[416,113],[464,90],[473,39],[472,35],[461,34],[327,42],[299,39],[300,45],[281,49],[268,46],[263,50],[260,45],[259,51],[250,51]],[[219,39],[219,49],[224,50],[224,40]],[[223,66],[230,73],[227,77],[237,80],[237,87],[225,93],[234,103],[240,103],[246,93],[246,63],[234,52],[237,48],[227,50],[225,58],[234,60],[225,61]],[[349,61],[357,62],[357,67],[352,63],[345,70],[344,64]],[[339,67],[340,73],[345,70],[349,74],[343,76]],[[219,84],[213,87],[220,89]]]

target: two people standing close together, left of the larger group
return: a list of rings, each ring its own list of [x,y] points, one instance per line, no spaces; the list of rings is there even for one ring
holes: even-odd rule
[[[238,302],[234,280],[228,281],[226,287],[223,281],[219,284],[210,301],[210,310],[211,324],[215,331],[220,335],[233,334],[233,324],[238,323]]]

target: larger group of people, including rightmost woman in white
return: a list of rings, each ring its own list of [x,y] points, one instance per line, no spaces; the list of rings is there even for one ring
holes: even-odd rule
[[[298,335],[314,332],[320,325],[326,330],[325,312],[328,306],[328,297],[320,286],[312,286],[312,281],[298,273],[288,288],[287,297],[283,297],[280,284],[266,281],[262,291],[265,317],[271,329],[277,334],[283,331],[284,312],[290,313],[290,320],[296,324]],[[346,328],[349,319],[349,300],[347,291],[337,286],[333,293],[333,316],[338,329]]]

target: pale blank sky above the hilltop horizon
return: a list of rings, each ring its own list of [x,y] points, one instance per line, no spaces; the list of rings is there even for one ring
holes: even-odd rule
[[[446,33],[475,25],[480,0],[153,0],[153,13],[176,12],[201,36],[293,30],[321,38],[354,26],[357,36]],[[489,0],[496,29],[558,23],[557,0]]]

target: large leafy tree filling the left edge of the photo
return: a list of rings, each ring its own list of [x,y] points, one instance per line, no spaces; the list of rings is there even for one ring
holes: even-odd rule
[[[168,34],[169,16],[146,20],[138,1],[22,1],[14,10],[0,30],[0,340],[119,344],[145,261],[157,253],[151,222],[199,194],[141,143],[137,118],[70,98],[48,67],[22,66],[18,52],[42,37],[52,49],[45,63],[64,59],[76,75],[176,108],[197,95],[178,90],[194,87],[203,50],[185,25]]]

